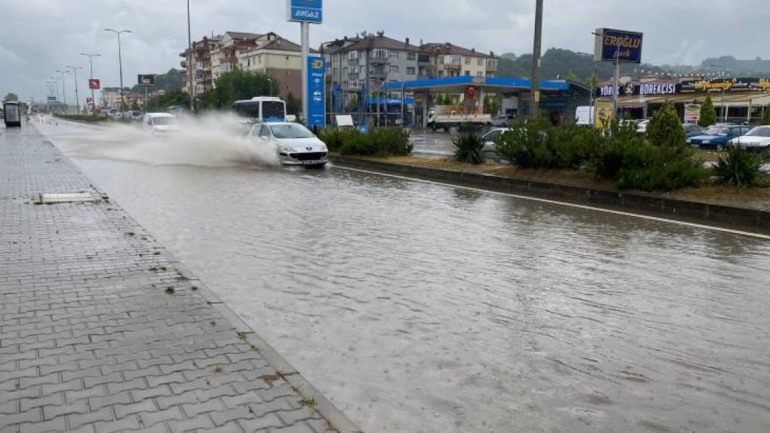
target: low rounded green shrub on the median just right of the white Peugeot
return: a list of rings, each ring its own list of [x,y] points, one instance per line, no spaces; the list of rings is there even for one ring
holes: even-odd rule
[[[367,134],[346,136],[340,155],[388,156],[410,155],[413,146],[409,135],[395,128],[374,128]],[[328,145],[327,145],[328,146]]]

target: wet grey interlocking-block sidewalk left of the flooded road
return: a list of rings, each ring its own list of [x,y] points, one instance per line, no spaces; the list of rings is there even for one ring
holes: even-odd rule
[[[34,203],[78,191],[102,201]],[[0,432],[357,430],[316,395],[53,145],[0,128]]]

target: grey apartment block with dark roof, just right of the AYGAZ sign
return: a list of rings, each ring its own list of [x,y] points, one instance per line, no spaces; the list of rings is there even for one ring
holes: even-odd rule
[[[333,86],[343,92],[360,92],[377,88],[383,82],[417,79],[417,55],[420,48],[409,38],[399,41],[385,36],[363,33],[354,38],[337,39],[322,45],[326,57],[326,74]]]

